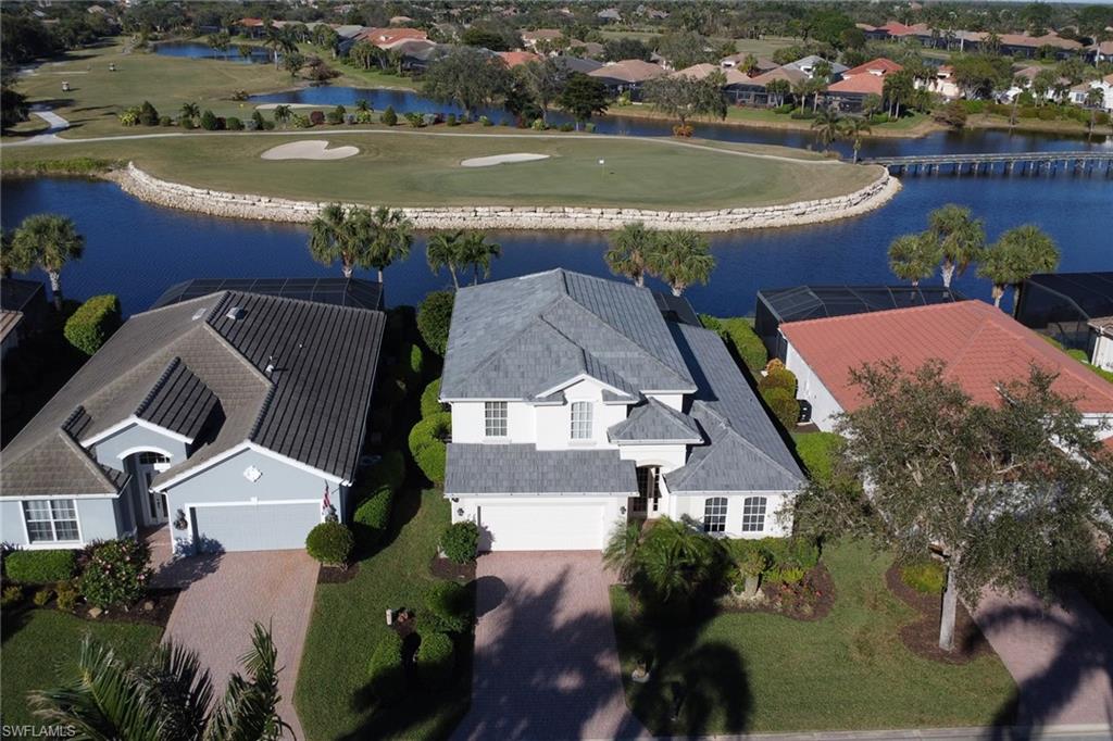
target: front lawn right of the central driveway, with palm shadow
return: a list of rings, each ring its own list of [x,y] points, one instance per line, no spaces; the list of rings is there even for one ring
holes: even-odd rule
[[[722,614],[653,636],[634,624],[614,587],[627,700],[648,728],[666,733],[736,733],[982,725],[1015,690],[1001,661],[983,655],[945,665],[912,654],[897,634],[915,613],[885,586],[890,560],[865,544],[824,554],[837,599],[831,613],[799,622],[762,613]],[[629,682],[637,656],[657,656],[650,683]],[[671,682],[687,699],[667,720]]]

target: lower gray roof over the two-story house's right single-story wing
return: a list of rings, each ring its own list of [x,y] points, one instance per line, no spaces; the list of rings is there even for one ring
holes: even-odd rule
[[[699,384],[689,415],[710,443],[664,475],[670,492],[792,491],[804,473],[722,339],[709,329],[671,324]]]

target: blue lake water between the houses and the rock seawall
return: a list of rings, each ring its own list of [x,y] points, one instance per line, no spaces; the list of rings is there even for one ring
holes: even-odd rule
[[[4,179],[4,228],[40,211],[66,214],[86,236],[85,257],[62,273],[67,296],[120,296],[126,313],[144,310],[169,285],[197,277],[338,276],[308,255],[304,226],[242,221],[151,206],[110,182],[82,179]],[[893,283],[886,249],[894,237],[923,229],[927,213],[965,204],[985,219],[991,239],[1024,223],[1048,231],[1063,253],[1061,269],[1113,269],[1113,180],[1054,178],[908,178],[886,207],[866,216],[807,227],[733,233],[711,238],[718,267],[708,286],[686,295],[700,312],[751,314],[760,288],[839,283]],[[608,275],[598,233],[491,233],[503,247],[493,278],[565,267]],[[365,277],[374,277],[367,271]],[[41,274],[36,277],[43,278]],[[447,285],[425,264],[424,237],[410,258],[386,270],[392,305],[415,304]],[[955,286],[989,298],[972,273]]]

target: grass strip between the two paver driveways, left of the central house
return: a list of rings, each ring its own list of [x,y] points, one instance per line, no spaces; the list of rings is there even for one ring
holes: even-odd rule
[[[415,607],[433,577],[429,563],[449,523],[440,492],[406,491],[394,505],[386,545],[359,562],[345,584],[317,586],[313,621],[294,702],[306,737],[432,739],[446,737],[467,711],[471,666],[461,662],[454,683],[431,694],[412,691],[390,709],[367,696],[368,665],[375,643],[391,629],[387,607]]]

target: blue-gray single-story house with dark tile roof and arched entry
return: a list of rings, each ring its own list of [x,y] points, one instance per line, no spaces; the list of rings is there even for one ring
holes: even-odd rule
[[[132,316],[3,449],[2,540],[170,523],[175,553],[301,549],[326,493],[346,521],[385,318],[339,303],[218,290]]]

